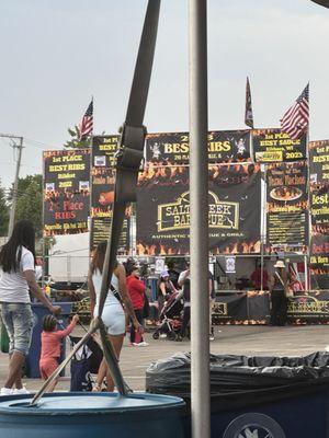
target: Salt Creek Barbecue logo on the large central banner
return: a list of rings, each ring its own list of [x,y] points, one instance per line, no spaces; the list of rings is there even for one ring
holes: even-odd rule
[[[218,196],[209,192],[209,228],[239,229],[239,204],[220,201]],[[158,206],[158,232],[185,230],[190,228],[190,193],[181,194],[175,203]]]

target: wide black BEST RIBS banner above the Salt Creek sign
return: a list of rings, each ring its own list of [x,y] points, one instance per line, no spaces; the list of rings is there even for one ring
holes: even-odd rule
[[[149,134],[146,160],[159,164],[189,164],[189,132]],[[209,163],[250,161],[250,130],[208,132]]]

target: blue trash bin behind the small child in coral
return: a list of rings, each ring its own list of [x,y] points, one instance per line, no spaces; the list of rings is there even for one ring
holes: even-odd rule
[[[72,310],[72,303],[54,302],[53,304],[60,306],[61,313],[57,316],[57,319],[60,325],[66,327],[69,323],[69,315]],[[32,333],[30,351],[29,355],[26,356],[24,373],[29,378],[36,379],[41,377],[38,361],[41,355],[41,334],[43,331],[43,319],[46,314],[49,314],[49,310],[41,303],[32,303],[31,307],[33,312],[33,333]],[[66,356],[66,342],[64,339],[60,348],[60,361],[65,358],[65,356]],[[65,376],[65,370],[63,370],[60,376]]]

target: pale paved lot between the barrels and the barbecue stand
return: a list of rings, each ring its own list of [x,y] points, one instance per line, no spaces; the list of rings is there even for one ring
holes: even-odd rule
[[[81,335],[81,328],[75,334]],[[216,326],[215,341],[211,343],[214,354],[238,355],[281,355],[299,356],[315,350],[324,350],[329,344],[329,326],[302,325],[286,327],[270,326]],[[145,389],[145,371],[149,364],[171,356],[178,351],[190,351],[189,342],[170,342],[166,338],[154,341],[151,334],[146,333],[147,347],[129,347],[127,339],[122,350],[121,368],[128,384],[136,391]],[[69,347],[68,347],[69,348]],[[0,385],[3,384],[8,367],[8,357],[0,354]],[[69,370],[67,377],[61,378],[58,390],[69,389]],[[41,388],[39,379],[24,379],[29,390]]]

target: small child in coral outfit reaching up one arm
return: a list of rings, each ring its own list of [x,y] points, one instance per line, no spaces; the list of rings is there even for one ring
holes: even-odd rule
[[[68,336],[77,322],[79,316],[75,315],[71,323],[65,330],[57,330],[57,320],[54,315],[49,314],[44,318],[43,332],[42,332],[42,351],[39,357],[39,372],[44,380],[47,380],[58,367],[60,357],[60,342]],[[53,392],[58,378],[54,380],[48,387],[48,392]]]

